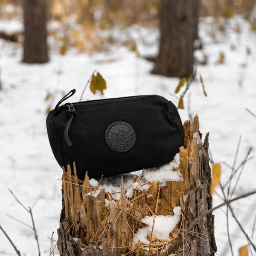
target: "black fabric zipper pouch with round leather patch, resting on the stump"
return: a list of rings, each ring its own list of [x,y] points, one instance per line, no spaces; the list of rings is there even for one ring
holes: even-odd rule
[[[62,166],[76,162],[79,179],[120,175],[173,160],[183,145],[175,105],[158,95],[61,103],[47,116],[52,152]],[[60,106],[61,105],[61,106]]]

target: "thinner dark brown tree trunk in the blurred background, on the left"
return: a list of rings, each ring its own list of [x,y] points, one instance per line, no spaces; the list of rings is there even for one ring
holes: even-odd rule
[[[48,53],[46,0],[23,0],[23,17],[23,62],[47,62]]]

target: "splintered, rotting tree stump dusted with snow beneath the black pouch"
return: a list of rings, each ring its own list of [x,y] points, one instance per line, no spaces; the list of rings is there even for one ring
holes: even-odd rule
[[[214,216],[189,224],[212,208],[208,136],[201,142],[198,116],[183,125],[185,142],[175,159],[157,169],[105,178],[85,175],[76,166],[63,170],[58,229],[61,256],[214,255]],[[197,248],[195,247],[195,245]]]

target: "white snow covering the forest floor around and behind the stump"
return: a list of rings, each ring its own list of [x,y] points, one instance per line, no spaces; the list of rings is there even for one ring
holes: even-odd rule
[[[210,131],[210,150],[215,162],[232,165],[239,136],[241,145],[236,166],[241,162],[250,146],[252,156],[256,154],[256,118],[245,108],[256,113],[256,36],[249,31],[249,26],[241,18],[230,22],[227,35],[217,32],[217,42],[209,33],[214,26],[209,26],[209,19],[200,26],[200,35],[204,49],[196,52],[201,57],[208,57],[207,65],[198,65],[207,90],[204,97],[201,84],[196,80],[190,88],[191,112],[198,113],[201,132]],[[241,32],[232,29],[239,23]],[[208,24],[208,25],[207,25]],[[0,22],[8,30],[8,23]],[[10,26],[13,28],[13,26]],[[145,47],[141,44],[141,32],[144,40],[157,38],[157,32],[134,27],[132,33],[137,40],[141,53],[157,52],[157,45]],[[153,38],[153,39],[152,39]],[[154,40],[153,40],[154,41]],[[233,44],[236,50],[232,50]],[[246,55],[250,47],[251,54]],[[52,231],[56,239],[56,229],[61,211],[61,169],[56,163],[47,138],[45,126],[45,101],[48,92],[54,93],[51,108],[61,98],[61,91],[68,92],[76,88],[73,101],[79,100],[81,91],[93,70],[98,70],[107,81],[104,98],[130,96],[136,94],[160,94],[177,105],[177,98],[172,95],[178,79],[153,76],[151,62],[137,58],[134,52],[116,47],[108,53],[95,55],[68,54],[50,55],[50,62],[42,65],[27,65],[20,62],[21,51],[13,44],[0,41],[0,224],[22,251],[22,255],[35,256],[37,247],[33,231],[23,224],[9,218],[12,215],[30,224],[29,215],[17,204],[7,188],[13,190],[26,206],[33,208],[35,224],[38,230],[42,255],[49,255]],[[217,64],[219,52],[224,52],[224,64]],[[241,71],[241,64],[247,66]],[[243,85],[239,87],[240,77]],[[185,109],[179,110],[183,121],[188,119],[188,97],[185,97]],[[88,89],[84,99],[99,99]],[[234,196],[256,189],[256,158],[250,160],[241,175]],[[222,164],[222,180],[227,180],[230,169]],[[220,192],[217,188],[217,192]],[[221,200],[214,195],[214,205]],[[245,198],[233,204],[239,220],[249,235],[252,233],[256,214],[256,196]],[[224,209],[223,209],[224,210]],[[227,243],[225,213],[222,209],[215,212],[216,241],[218,255],[230,255]],[[234,253],[238,247],[246,244],[246,239],[230,216],[230,234]],[[256,234],[254,235],[254,242]],[[0,232],[0,255],[15,255],[13,248]],[[56,252],[57,255],[57,252]],[[254,253],[255,255],[255,253]]]

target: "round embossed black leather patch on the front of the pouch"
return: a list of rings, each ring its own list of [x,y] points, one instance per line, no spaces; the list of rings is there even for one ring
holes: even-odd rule
[[[134,146],[136,135],[134,128],[128,123],[114,122],[108,126],[105,140],[113,151],[124,153]]]

